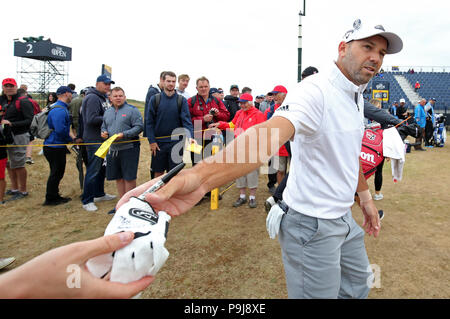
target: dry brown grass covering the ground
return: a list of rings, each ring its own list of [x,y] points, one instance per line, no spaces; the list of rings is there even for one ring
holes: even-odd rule
[[[15,256],[14,267],[51,248],[99,237],[111,219],[114,203],[99,203],[88,213],[81,207],[75,157],[68,155],[60,190],[73,200],[44,207],[48,164],[35,148],[27,166],[30,195],[0,208],[0,256]],[[381,269],[381,288],[370,298],[449,298],[450,148],[407,154],[404,180],[391,181],[385,165],[382,192],[376,202],[386,217],[377,239],[366,237],[370,262]],[[147,142],[142,143],[138,183],[149,178]],[[267,177],[260,176],[259,207],[232,208],[233,187],[217,211],[204,202],[172,219],[166,247],[170,257],[143,298],[286,298],[279,244],[265,229],[263,201]],[[373,178],[369,180],[373,190]],[[115,194],[115,184],[106,182]],[[356,221],[362,218],[353,208]],[[11,268],[11,267],[10,267]],[[0,272],[1,274],[1,272]]]

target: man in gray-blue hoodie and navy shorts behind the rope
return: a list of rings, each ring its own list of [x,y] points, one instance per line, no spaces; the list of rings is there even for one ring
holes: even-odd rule
[[[114,134],[115,140],[106,157],[106,179],[115,180],[117,192],[122,197],[126,192],[136,187],[139,164],[140,142],[139,133],[144,129],[144,123],[139,110],[126,103],[125,92],[120,87],[111,91],[113,107],[105,111],[101,136],[107,139]],[[129,140],[129,143],[125,143]]]

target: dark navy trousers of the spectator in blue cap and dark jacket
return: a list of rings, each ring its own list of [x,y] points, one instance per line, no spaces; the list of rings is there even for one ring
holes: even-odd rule
[[[95,156],[99,145],[87,145],[88,166],[84,177],[84,188],[81,201],[83,205],[93,203],[94,197],[105,195],[105,175],[106,167],[103,165],[103,159]]]

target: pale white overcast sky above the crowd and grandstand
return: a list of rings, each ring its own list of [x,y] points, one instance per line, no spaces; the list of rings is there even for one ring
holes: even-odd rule
[[[22,0],[3,5],[0,77],[17,78],[13,39],[44,36],[72,48],[69,82],[95,85],[101,65],[112,67],[128,98],[144,100],[159,73],[209,78],[228,93],[231,84],[253,95],[297,81],[299,11],[303,0]],[[450,2],[441,0],[306,0],[302,69],[319,70],[337,57],[353,21],[368,18],[397,33],[403,51],[385,66],[449,66]],[[21,84],[21,83],[19,83]]]

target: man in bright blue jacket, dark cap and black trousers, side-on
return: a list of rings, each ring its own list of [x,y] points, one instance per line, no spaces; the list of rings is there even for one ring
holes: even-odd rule
[[[61,86],[56,91],[58,101],[52,105],[48,117],[48,127],[53,131],[44,141],[44,156],[50,166],[50,175],[47,180],[47,191],[43,205],[55,206],[67,203],[69,197],[59,194],[59,183],[66,170],[67,147],[63,144],[73,141],[70,131],[70,116],[68,104],[72,101],[73,91],[68,86]]]

